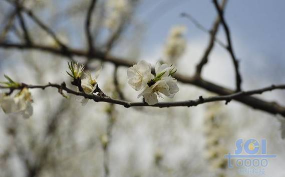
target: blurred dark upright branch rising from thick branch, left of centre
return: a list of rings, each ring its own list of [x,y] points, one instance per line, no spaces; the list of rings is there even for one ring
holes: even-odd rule
[[[93,52],[94,46],[93,46],[93,37],[91,34],[91,21],[92,21],[92,12],[94,11],[95,5],[97,0],[91,0],[90,6],[87,11],[86,21],[85,21],[85,32],[86,32],[86,38],[88,41],[88,47],[89,47],[89,53]]]

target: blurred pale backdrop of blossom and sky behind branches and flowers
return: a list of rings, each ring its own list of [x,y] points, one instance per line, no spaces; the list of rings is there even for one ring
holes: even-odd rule
[[[84,22],[90,1],[24,0],[23,4],[65,44],[86,50]],[[284,6],[283,0],[228,0],[226,4],[224,15],[245,90],[285,82]],[[11,17],[14,12],[11,3],[0,0],[1,41],[23,41],[19,19]],[[94,45],[134,63],[142,59],[153,66],[158,60],[171,62],[179,73],[191,76],[209,34],[181,13],[191,15],[206,29],[217,15],[211,0],[97,0],[91,26]],[[23,16],[35,43],[59,47],[27,14]],[[176,40],[175,32],[179,33]],[[217,38],[226,43],[221,26]],[[171,52],[176,45],[176,53]],[[74,59],[87,62],[85,57]],[[0,80],[7,74],[29,84],[68,83],[67,61],[67,57],[40,50],[0,47]],[[138,92],[126,82],[126,67],[96,58],[89,65],[93,71],[102,65],[98,84],[107,95],[138,101]],[[230,55],[217,43],[202,76],[234,88]],[[193,85],[178,82],[178,86],[173,99],[160,101],[214,95]],[[285,141],[278,117],[236,101],[124,108],[93,101],[82,106],[77,97],[66,99],[55,88],[31,92],[34,113],[29,119],[0,111],[1,177],[246,176],[238,167],[228,168],[224,158],[234,152],[239,138],[265,138],[267,152],[277,157],[268,160],[263,176],[285,176]],[[284,95],[275,90],[257,97],[284,105]]]

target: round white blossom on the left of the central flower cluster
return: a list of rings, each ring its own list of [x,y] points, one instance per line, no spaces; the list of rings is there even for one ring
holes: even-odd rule
[[[147,83],[154,77],[151,74],[151,65],[144,60],[131,66],[127,70],[128,83],[135,90],[143,89]]]

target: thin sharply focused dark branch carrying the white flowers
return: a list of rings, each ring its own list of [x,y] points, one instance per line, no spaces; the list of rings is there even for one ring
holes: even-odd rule
[[[157,104],[154,104],[154,105],[148,105],[146,102],[129,102],[129,101],[123,101],[119,99],[113,99],[109,96],[99,96],[95,94],[87,94],[85,92],[74,91],[66,87],[65,82],[63,82],[62,84],[49,83],[47,85],[27,85],[27,84],[22,83],[21,86],[18,86],[18,87],[0,86],[0,88],[10,88],[11,89],[10,92],[12,92],[15,89],[23,89],[24,87],[41,88],[41,89],[45,89],[47,87],[55,87],[55,88],[58,88],[59,92],[63,95],[64,95],[63,90],[65,90],[67,93],[78,95],[78,96],[83,96],[88,99],[93,99],[95,102],[109,102],[109,103],[123,105],[124,107],[128,108],[128,107],[134,107],[134,106],[152,106],[152,107],[187,106],[187,107],[190,107],[190,106],[197,106],[199,104],[206,103],[206,102],[222,101],[222,100],[228,103],[232,99],[236,99],[236,100],[248,99],[248,97],[246,96],[252,95],[252,94],[261,94],[265,91],[271,91],[274,89],[285,89],[285,84],[271,85],[271,86],[260,88],[260,89],[240,91],[240,92],[235,92],[235,93],[228,94],[228,95],[212,96],[212,97],[207,97],[207,98],[203,98],[202,96],[200,96],[198,99],[195,99],[195,100],[175,101],[175,102],[158,102]],[[267,103],[267,104],[269,105],[271,104],[271,106],[275,108],[274,112],[272,111],[271,113],[280,114],[285,117],[285,107],[280,107],[278,104],[274,102]],[[257,107],[253,106],[253,108],[257,108]]]

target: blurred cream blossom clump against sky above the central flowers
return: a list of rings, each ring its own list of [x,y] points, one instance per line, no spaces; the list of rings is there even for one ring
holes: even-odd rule
[[[165,45],[165,56],[168,62],[176,62],[176,60],[184,53],[186,48],[185,26],[174,26],[168,35]]]

